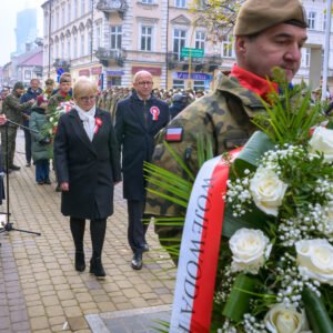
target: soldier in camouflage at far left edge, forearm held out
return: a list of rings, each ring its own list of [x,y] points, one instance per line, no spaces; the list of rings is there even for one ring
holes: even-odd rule
[[[20,98],[23,92],[24,92],[23,83],[17,82],[12,89],[12,92],[6,97],[2,104],[2,113],[6,114],[6,117],[9,120],[19,124],[21,124],[22,121],[22,112],[26,109],[31,108],[31,105],[36,102],[34,99],[31,99],[24,103],[20,103]],[[8,130],[7,133],[8,138],[6,135],[6,128],[1,128],[1,147],[3,153],[2,167],[3,170],[10,172],[11,170],[13,171],[20,170],[20,167],[13,163],[18,125],[8,123],[7,130]],[[7,152],[7,147],[8,147],[8,152]],[[7,170],[7,165],[6,165],[7,159],[8,159],[9,170]]]

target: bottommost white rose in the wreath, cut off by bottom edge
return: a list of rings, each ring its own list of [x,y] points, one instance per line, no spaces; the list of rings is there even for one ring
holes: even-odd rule
[[[304,311],[297,312],[295,307],[285,307],[284,304],[275,304],[266,313],[264,323],[272,333],[299,333],[307,329]]]

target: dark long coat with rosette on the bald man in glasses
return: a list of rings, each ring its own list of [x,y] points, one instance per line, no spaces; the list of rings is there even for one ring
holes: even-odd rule
[[[159,114],[153,120],[152,112]],[[120,101],[115,113],[115,135],[122,148],[123,198],[145,200],[143,161],[151,162],[154,135],[169,122],[169,105],[151,95],[143,102],[135,92]]]

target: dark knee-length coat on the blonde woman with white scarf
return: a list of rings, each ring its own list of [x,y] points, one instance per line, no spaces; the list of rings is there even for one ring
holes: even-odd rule
[[[103,219],[113,213],[113,185],[121,180],[120,155],[110,113],[97,109],[102,121],[92,142],[77,110],[60,117],[54,138],[54,162],[62,192],[61,212],[79,219]]]

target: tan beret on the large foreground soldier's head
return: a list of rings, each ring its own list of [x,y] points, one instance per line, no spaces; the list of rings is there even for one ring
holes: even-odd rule
[[[307,27],[306,13],[299,0],[246,0],[238,14],[234,34],[255,34],[280,23]]]

